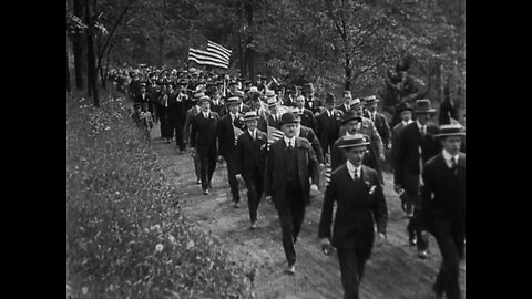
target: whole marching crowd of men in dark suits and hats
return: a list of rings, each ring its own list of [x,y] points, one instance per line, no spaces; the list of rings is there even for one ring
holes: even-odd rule
[[[382,164],[389,156],[393,187],[409,218],[409,244],[427,258],[430,233],[442,254],[434,296],[460,298],[466,133],[451,117],[433,124],[437,111],[430,100],[401,103],[401,122],[390,127],[378,112],[376,95],[354,97],[345,91],[340,99],[330,92],[318,99],[313,83],[290,87],[262,75],[252,82],[193,68],[113,70],[111,80],[134,102],[132,118],[149,140],[158,124],[161,137],[175,140],[180,153],[188,146],[204,195],[223,158],[235,208],[239,188],[247,189],[250,229],[257,228],[260,200],[270,198],[280,220],[288,274],[295,274],[305,207],[326,173],[318,236],[326,255],[337,250],[345,298],[358,298],[375,233],[378,244],[386,241]],[[444,113],[450,115],[448,107]]]

